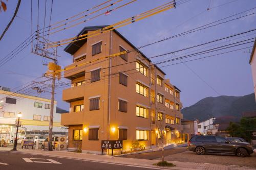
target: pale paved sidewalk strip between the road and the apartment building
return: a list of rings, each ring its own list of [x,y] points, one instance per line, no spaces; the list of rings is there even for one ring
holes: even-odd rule
[[[10,148],[0,148],[0,151],[10,151]],[[240,167],[240,166],[232,166],[232,165],[218,165],[218,164],[207,164],[207,163],[193,163],[193,162],[177,162],[172,161],[172,163],[176,164],[175,167],[159,167],[154,166],[153,164],[158,162],[158,160],[146,160],[146,159],[134,159],[134,158],[122,158],[122,157],[114,157],[108,155],[94,155],[94,154],[86,154],[86,153],[73,153],[67,151],[40,151],[40,150],[20,150],[12,151],[19,153],[27,153],[27,154],[35,154],[35,155],[44,155],[44,156],[52,156],[52,157],[62,157],[69,159],[78,159],[78,160],[87,160],[93,162],[102,162],[102,163],[112,163],[112,164],[120,164],[127,166],[138,166],[138,167],[148,167],[148,168],[159,168],[159,169],[178,169],[178,170],[255,170],[255,168],[250,167]]]

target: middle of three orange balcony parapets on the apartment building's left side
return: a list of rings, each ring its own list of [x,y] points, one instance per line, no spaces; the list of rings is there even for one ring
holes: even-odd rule
[[[62,101],[74,102],[83,100],[84,85],[67,88],[62,91]]]

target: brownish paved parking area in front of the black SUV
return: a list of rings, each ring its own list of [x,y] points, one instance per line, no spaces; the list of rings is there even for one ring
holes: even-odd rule
[[[158,158],[160,160],[160,158]],[[223,165],[237,165],[237,166],[249,166],[256,167],[256,154],[252,154],[249,157],[240,158],[235,155],[223,155],[223,154],[205,154],[197,155],[195,152],[185,151],[178,154],[168,155],[165,157],[168,161],[180,161],[180,162],[196,162],[196,163],[212,163]]]

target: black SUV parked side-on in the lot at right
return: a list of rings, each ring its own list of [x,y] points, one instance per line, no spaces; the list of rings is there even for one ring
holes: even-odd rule
[[[188,141],[189,151],[198,155],[204,153],[228,153],[236,154],[239,157],[246,157],[253,153],[252,146],[247,143],[238,143],[227,140],[221,136],[196,135]]]

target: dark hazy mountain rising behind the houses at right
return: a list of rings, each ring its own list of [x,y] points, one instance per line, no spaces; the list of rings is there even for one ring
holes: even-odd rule
[[[181,110],[186,119],[198,119],[200,122],[211,117],[236,116],[241,117],[245,111],[256,110],[254,93],[244,96],[207,97],[194,105]]]

